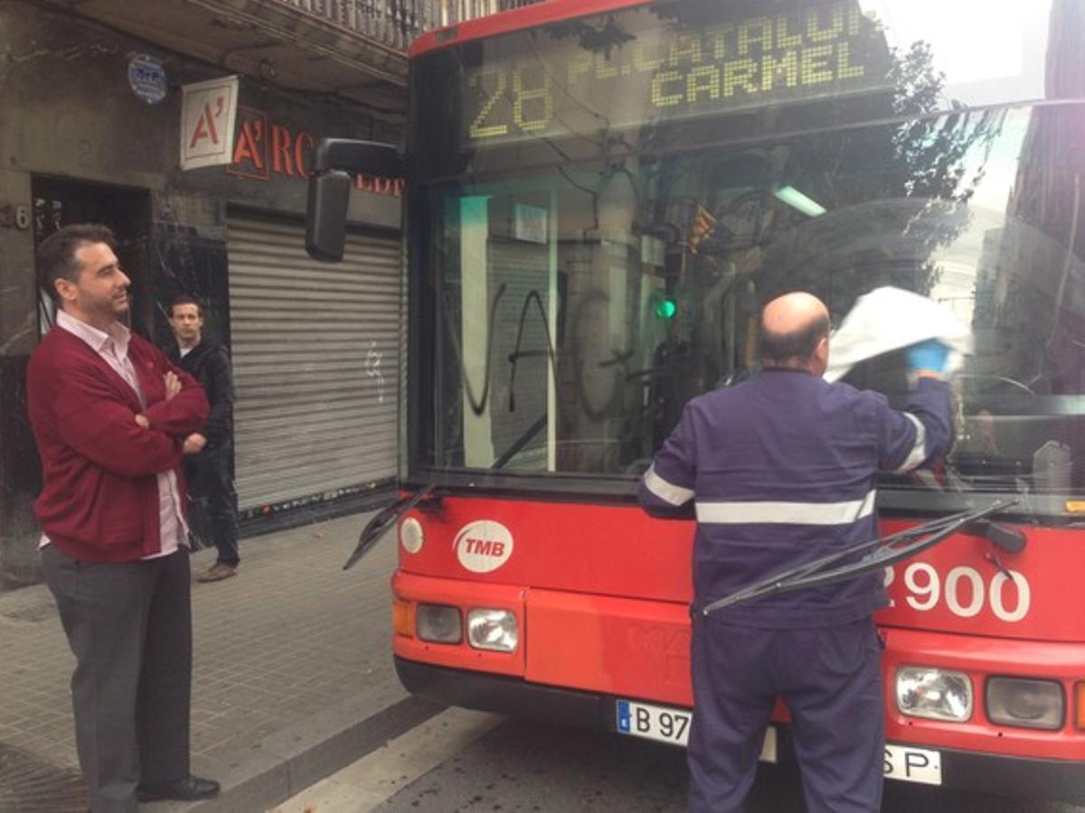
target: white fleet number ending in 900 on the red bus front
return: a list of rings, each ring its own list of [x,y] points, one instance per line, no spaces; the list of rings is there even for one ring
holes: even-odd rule
[[[914,562],[904,568],[904,601],[920,612],[933,610],[944,602],[946,608],[960,618],[978,616],[987,606],[995,618],[1013,623],[1029,615],[1032,590],[1022,573],[1008,572],[1008,577],[996,572],[987,581],[975,568],[961,566],[943,578],[933,565]],[[896,568],[885,568],[885,586],[891,586],[895,580]]]

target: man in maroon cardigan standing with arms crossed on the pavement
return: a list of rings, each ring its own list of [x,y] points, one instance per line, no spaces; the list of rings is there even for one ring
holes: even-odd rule
[[[38,248],[56,324],[27,372],[43,472],[41,562],[76,656],[76,745],[92,811],[215,796],[189,772],[192,616],[181,447],[203,388],[119,318],[129,280],[101,225]]]

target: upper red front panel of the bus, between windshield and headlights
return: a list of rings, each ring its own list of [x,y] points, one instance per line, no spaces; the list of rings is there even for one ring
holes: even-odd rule
[[[454,496],[443,499],[438,513],[412,515],[426,542],[418,554],[401,553],[400,566],[409,573],[682,607],[691,598],[692,522],[655,520],[636,506]],[[513,540],[507,562],[489,572],[468,570],[454,546],[459,531],[477,521],[499,522]],[[883,530],[906,525],[888,521]],[[879,621],[998,638],[1085,641],[1082,532],[1027,526],[1023,531],[1029,543],[1022,553],[998,555],[1019,575],[1012,582],[995,562],[998,550],[981,537],[958,534],[896,565],[893,607]],[[1018,586],[1019,578],[1025,586]],[[1021,617],[1005,620],[1016,615]]]

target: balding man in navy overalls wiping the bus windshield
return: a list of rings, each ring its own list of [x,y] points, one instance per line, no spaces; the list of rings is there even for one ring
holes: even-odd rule
[[[640,486],[652,516],[697,516],[689,809],[741,810],[782,697],[810,813],[868,813],[881,804],[885,739],[872,619],[888,605],[882,573],[701,608],[877,537],[877,473],[916,468],[950,443],[947,350],[908,349],[915,386],[897,412],[821,378],[829,314],[816,297],[774,299],[760,338],[763,372],[691,400]]]

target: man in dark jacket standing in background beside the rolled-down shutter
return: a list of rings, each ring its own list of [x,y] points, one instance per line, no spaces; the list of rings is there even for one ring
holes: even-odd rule
[[[169,326],[177,344],[167,349],[170,361],[190,373],[207,392],[210,416],[197,433],[184,439],[184,473],[193,496],[206,506],[210,532],[218,549],[215,564],[196,581],[220,581],[235,576],[238,554],[238,494],[233,488],[233,374],[226,348],[203,336],[203,311],[192,297],[169,306]]]

